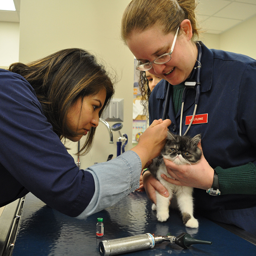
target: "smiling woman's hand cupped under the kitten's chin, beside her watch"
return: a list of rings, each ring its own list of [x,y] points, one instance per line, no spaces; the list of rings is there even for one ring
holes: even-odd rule
[[[202,150],[201,142],[198,147]],[[176,165],[170,160],[164,159],[168,174],[174,179],[168,178],[162,174],[161,177],[166,181],[179,185],[193,188],[208,189],[213,184],[214,170],[206,161],[203,151],[202,157],[196,164]]]

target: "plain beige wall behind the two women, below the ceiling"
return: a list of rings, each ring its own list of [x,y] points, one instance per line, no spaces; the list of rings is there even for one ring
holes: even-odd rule
[[[131,52],[120,40],[120,21],[129,2],[130,0],[22,0],[19,45],[21,62],[26,63],[63,48],[79,47],[103,59],[110,70],[116,70],[119,82],[115,97],[125,99],[125,120],[121,131],[129,137],[126,150],[132,147],[134,62]],[[203,34],[200,40],[208,48],[247,54],[256,59],[255,25],[256,16],[221,35]],[[1,36],[3,31],[7,34],[7,30],[17,35],[18,26],[0,23]],[[12,41],[17,42],[17,38],[12,38]],[[0,51],[3,52],[2,48],[5,47],[0,47]],[[14,49],[9,49],[10,52],[12,50],[14,53]],[[2,52],[0,56],[3,56]],[[0,66],[5,65],[0,63]],[[118,132],[113,132],[113,135],[114,144],[111,145],[107,129],[100,123],[93,149],[87,156],[80,158],[82,168],[94,162],[106,161],[109,154],[116,155]],[[77,150],[77,143],[68,145],[73,148],[70,152]]]

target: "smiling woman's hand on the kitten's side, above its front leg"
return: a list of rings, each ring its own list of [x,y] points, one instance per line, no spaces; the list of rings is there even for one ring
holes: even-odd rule
[[[153,177],[150,171],[146,171],[143,174],[142,179],[147,196],[154,204],[156,204],[156,191],[158,191],[164,197],[169,196],[167,189],[160,183],[160,181]]]

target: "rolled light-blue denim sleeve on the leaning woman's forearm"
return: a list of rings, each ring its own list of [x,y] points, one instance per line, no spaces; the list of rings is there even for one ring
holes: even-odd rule
[[[86,169],[93,175],[95,193],[79,219],[101,211],[139,187],[141,161],[134,151],[127,151],[117,158],[95,164]]]

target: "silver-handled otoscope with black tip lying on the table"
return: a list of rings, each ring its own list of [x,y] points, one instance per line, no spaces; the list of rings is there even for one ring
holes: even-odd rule
[[[156,244],[165,241],[179,245],[182,248],[188,248],[190,245],[194,244],[212,244],[212,242],[192,238],[188,233],[181,233],[177,237],[171,236],[169,233],[167,236],[154,236],[154,234],[145,233],[138,236],[101,241],[99,243],[99,251],[101,256],[112,256],[132,251],[152,249]]]

